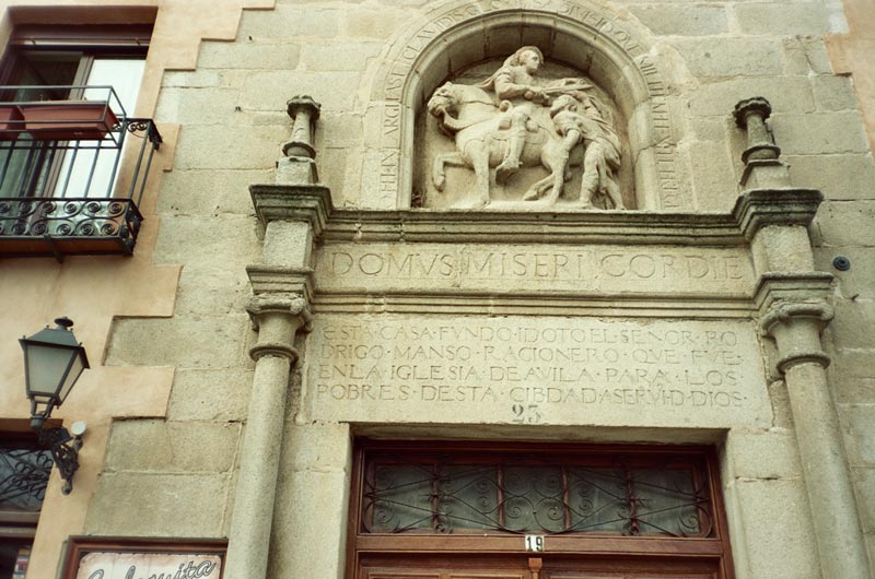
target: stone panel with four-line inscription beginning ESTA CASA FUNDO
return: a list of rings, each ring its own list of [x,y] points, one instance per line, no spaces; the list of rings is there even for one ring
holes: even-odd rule
[[[771,420],[746,321],[323,315],[302,359],[317,420],[711,428]]]

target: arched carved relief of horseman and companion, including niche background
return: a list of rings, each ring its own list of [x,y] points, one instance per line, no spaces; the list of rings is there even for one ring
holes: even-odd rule
[[[417,126],[421,206],[626,209],[626,126],[607,93],[537,46],[439,86]]]

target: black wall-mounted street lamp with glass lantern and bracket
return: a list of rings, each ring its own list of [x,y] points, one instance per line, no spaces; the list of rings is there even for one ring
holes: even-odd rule
[[[82,371],[89,367],[85,348],[77,342],[70,330],[69,318],[55,320],[57,328],[46,326],[30,338],[19,340],[24,350],[24,381],[31,401],[31,428],[39,437],[39,445],[51,451],[51,458],[63,478],[62,492],[73,489],[73,473],[79,469],[81,436],[84,423],[75,423],[71,435],[63,427],[46,427],[55,406],[60,406],[72,390]]]

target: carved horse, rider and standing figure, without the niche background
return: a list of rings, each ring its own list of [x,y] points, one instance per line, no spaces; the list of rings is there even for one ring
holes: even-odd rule
[[[572,177],[571,152],[582,145],[583,175],[579,206],[592,209],[600,198],[607,209],[626,209],[617,172],[620,143],[609,110],[585,79],[560,79],[540,86],[535,80],[544,56],[524,46],[479,84],[445,83],[434,91],[428,110],[438,126],[455,140],[456,151],[438,154],[432,181],[446,184],[445,166],[474,169],[476,206],[490,202],[490,168],[495,181],[506,182],[521,167],[542,165],[550,174],[533,184],[524,201],[551,206]]]

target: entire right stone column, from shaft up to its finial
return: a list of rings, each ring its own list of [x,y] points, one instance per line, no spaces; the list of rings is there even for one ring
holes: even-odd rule
[[[766,125],[770,110],[761,97],[735,107],[736,122],[748,131],[742,185],[751,189],[738,198],[734,214],[760,274],[755,299],[786,383],[821,576],[864,579],[870,577],[866,546],[829,391],[830,359],[820,343],[832,319],[827,302],[832,275],[815,270],[807,232],[822,194],[791,187]]]

